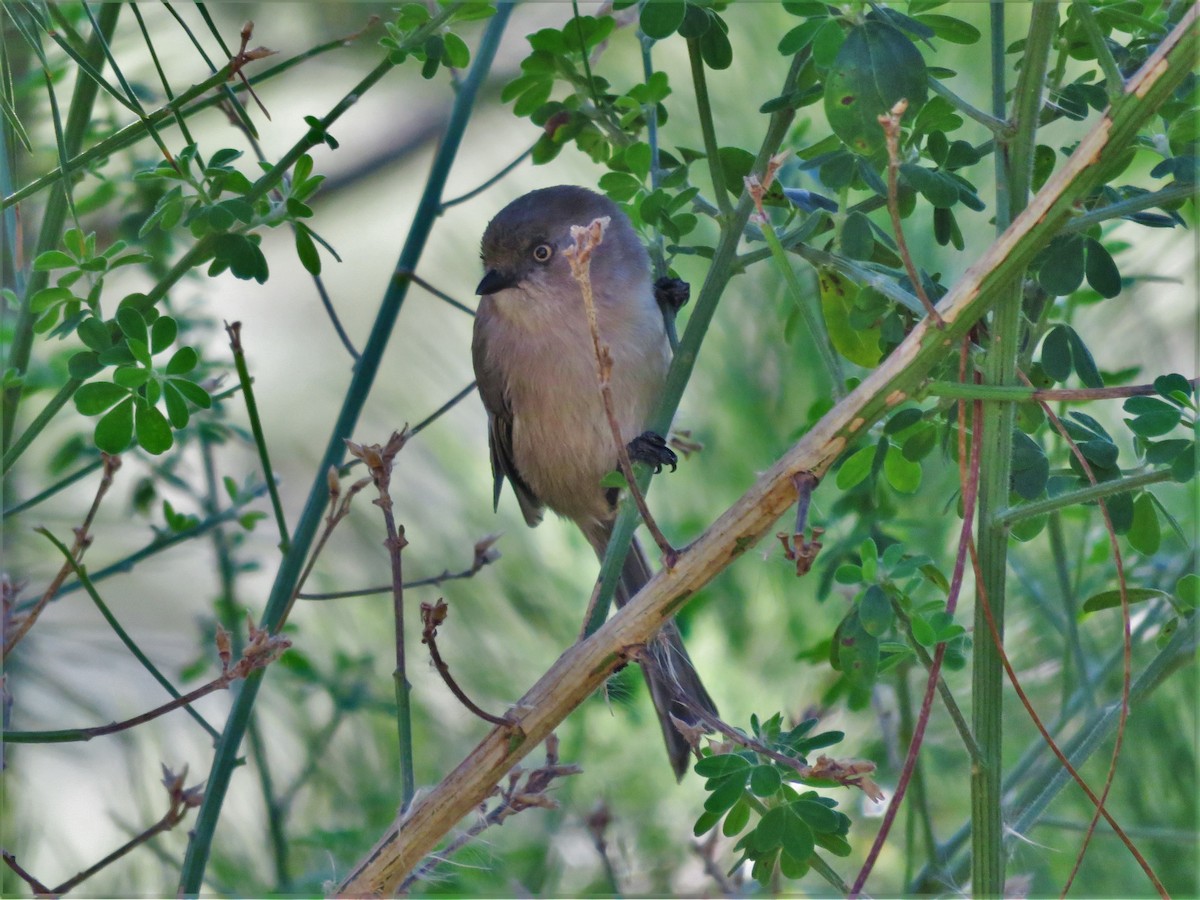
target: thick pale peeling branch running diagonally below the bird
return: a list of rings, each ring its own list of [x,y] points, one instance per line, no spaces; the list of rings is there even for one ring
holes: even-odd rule
[[[931,367],[956,346],[1012,281],[1072,215],[1075,200],[1103,176],[1117,154],[1190,71],[1196,48],[1196,10],[1190,10],[1124,96],[1096,122],[1066,164],[1033,197],[1012,226],[942,299],[944,330],[920,323],[848,397],[764,473],[680,557],[660,571],[590,637],[568,649],[506,716],[437,787],[394,823],[337,887],[346,895],[390,894],[504,774],[544,740],[612,671],[688,600],[766,535],[796,502],[793,476],[823,473],[870,425],[904,402]]]

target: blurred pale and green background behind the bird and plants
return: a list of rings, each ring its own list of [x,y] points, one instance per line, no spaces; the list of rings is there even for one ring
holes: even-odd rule
[[[242,23],[252,19],[251,46],[263,44],[284,56],[356,32],[368,25],[372,16],[392,14],[389,4],[362,2],[222,2],[209,8],[227,40],[235,42]],[[587,12],[592,5],[582,5],[582,10]],[[983,4],[950,4],[946,11],[985,28]],[[168,12],[161,7],[143,12],[173,83],[187,85],[204,77],[208,70]],[[180,6],[179,13],[199,29],[193,8]],[[1027,22],[1026,5],[1009,4],[1007,14],[1015,38]],[[499,90],[517,73],[528,47],[523,36],[544,25],[560,25],[570,16],[570,5],[563,2],[527,4],[516,11],[467,131],[446,197],[476,187],[538,137],[528,121],[515,119],[510,108],[499,102]],[[774,96],[786,66],[775,44],[794,20],[768,2],[734,4],[726,19],[737,62],[728,71],[709,73],[720,142],[756,146],[766,120],[758,106]],[[476,24],[463,31],[472,47],[481,28]],[[252,109],[268,158],[277,158],[305,132],[305,115],[322,115],[374,65],[380,34],[377,25],[371,26],[347,47],[313,59],[258,90],[271,114],[266,121]],[[7,47],[11,35],[6,34],[5,40]],[[138,73],[148,91],[158,90],[144,44],[133,29],[120,28],[113,49],[126,71]],[[928,61],[959,72],[953,80],[955,90],[985,106],[988,83],[982,53],[979,46],[943,48]],[[698,146],[701,137],[682,42],[658,48],[655,62],[670,74],[673,86],[666,101],[670,121],[661,132],[664,145]],[[622,89],[641,78],[632,28],[614,32],[598,71]],[[444,73],[425,82],[416,67],[398,68],[334,128],[337,150],[313,151],[316,170],[328,180],[312,203],[316,217],[311,221],[341,256],[340,264],[326,257],[324,280],[358,344],[365,340],[413,218],[451,90]],[[115,109],[106,114],[119,115]],[[26,122],[26,127],[43,138],[49,133],[47,121]],[[197,118],[193,127],[209,152],[220,146],[244,146],[240,133],[218,110]],[[788,144],[804,146],[826,133],[820,104],[809,107],[798,116]],[[974,137],[982,139],[982,130]],[[170,139],[178,140],[178,134],[172,133]],[[43,140],[42,146],[53,148],[53,140]],[[144,164],[154,162],[149,145],[139,145],[137,156]],[[16,182],[24,184],[52,166],[53,155],[22,155],[18,162]],[[976,174],[980,179],[979,194],[990,206],[989,167],[978,167]],[[601,174],[600,167],[571,148],[547,166],[517,167],[491,190],[446,211],[418,274],[473,305],[480,277],[479,236],[488,218],[533,187],[564,182],[595,186]],[[85,188],[86,184],[80,187]],[[120,209],[108,208],[95,221],[89,220],[90,227],[116,234],[121,214]],[[931,233],[917,227],[908,240],[914,254],[930,270],[942,271],[943,281],[949,283],[971,264],[972,250],[986,245],[991,234],[989,216],[984,211],[960,217],[967,253],[936,246]],[[1147,238],[1134,226],[1118,227],[1120,236],[1124,238],[1126,232],[1130,247],[1120,257],[1122,271],[1154,280],[1136,282],[1116,301],[1087,310],[1075,325],[1102,370],[1141,365],[1147,376],[1141,380],[1172,371],[1190,377],[1196,359],[1194,232],[1154,232]],[[715,229],[701,230],[694,238],[702,242]],[[263,250],[271,266],[265,286],[229,275],[191,278],[173,292],[170,305],[175,311],[211,320],[214,328],[204,354],[214,359],[228,358],[220,323],[242,323],[263,424],[282,480],[284,510],[288,521],[294,522],[348,383],[350,359],[322,311],[311,278],[296,262],[289,234],[284,229],[269,233]],[[703,278],[704,263],[695,257],[677,258],[676,268],[694,287]],[[131,272],[127,289],[137,289],[139,277],[144,276]],[[800,269],[800,277],[814,282],[808,269]],[[778,276],[764,266],[737,277],[722,299],[674,424],[677,430],[689,430],[691,439],[703,449],[684,460],[673,475],[655,480],[650,494],[655,515],[677,545],[685,545],[733,503],[756,474],[796,439],[814,404],[828,398],[828,384],[808,337],[800,335],[792,343],[781,340],[790,310],[791,300],[784,295]],[[685,308],[683,320],[686,316]],[[355,439],[383,442],[392,430],[424,419],[464,388],[473,378],[470,328],[469,316],[414,287]],[[1116,404],[1093,407],[1088,413],[1106,424],[1120,419]],[[244,420],[239,403],[228,404],[228,412],[234,420]],[[70,410],[55,422],[53,436],[44,443],[53,446],[85,428],[90,430],[90,425]],[[18,490],[28,496],[44,484],[44,460],[29,460]],[[151,522],[157,521],[155,510],[145,517],[132,508],[145,466],[144,458],[127,455],[89,551],[94,570],[151,536]],[[221,449],[217,466],[221,475],[241,482],[257,470],[257,457],[250,445],[229,444]],[[179,474],[191,481],[202,480],[203,461],[194,452],[185,456]],[[946,569],[959,529],[955,508],[947,506],[955,486],[953,463],[935,454],[926,460],[919,491],[884,504],[889,532],[902,534],[914,551],[943,560]],[[414,661],[409,677],[418,703],[416,778],[419,785],[430,786],[474,746],[487,726],[463,710],[426,665],[424,648],[416,642],[416,604],[445,598],[450,618],[440,631],[443,655],[476,702],[500,713],[574,641],[596,564],[582,536],[566,523],[548,518],[536,530],[526,528],[508,491],[498,514],[492,512],[485,418],[474,395],[403,450],[392,492],[397,520],[409,541],[404,551],[406,577],[464,569],[476,540],[491,533],[502,535],[496,545],[500,558],[474,578],[407,595],[414,611],[409,618],[409,659]],[[194,497],[185,491],[168,490],[164,496],[181,511],[202,514]],[[830,480],[814,500],[812,516],[827,528],[827,547],[850,536],[833,511],[838,496]],[[1160,497],[1194,539],[1194,493],[1177,488],[1163,491]],[[88,491],[65,492],[40,505],[31,517],[22,520],[20,527],[6,528],[5,568],[14,577],[28,580],[31,592],[38,590],[58,566],[31,528],[44,524],[56,534],[68,534],[90,498]],[[265,509],[265,503],[258,508]],[[1066,530],[1085,583],[1088,566],[1106,559],[1106,544],[1099,540],[1098,528],[1093,516],[1069,521]],[[236,599],[256,618],[274,575],[275,540],[270,522],[264,521],[238,551],[252,568],[239,581]],[[386,583],[388,556],[382,541],[382,522],[368,491],[359,497],[354,514],[335,534],[307,590]],[[1168,535],[1160,559],[1138,559],[1135,564],[1175,570],[1194,560],[1193,554],[1194,544],[1184,546]],[[188,684],[216,671],[209,637],[218,590],[214,560],[209,544],[188,542],[152,558],[133,576],[116,576],[104,583],[106,596],[139,643],[173,677],[190,670],[193,680]],[[1015,577],[1009,600],[1009,652],[1034,702],[1044,715],[1052,716],[1061,702],[1057,677],[1062,638],[1046,612],[1045,598],[1055,572],[1039,545],[1018,546],[1012,569]],[[835,755],[875,761],[880,767],[877,780],[890,796],[907,746],[898,732],[896,691],[881,686],[862,709],[848,710],[844,701],[822,708],[834,673],[820,655],[797,659],[827,641],[845,612],[848,596],[827,583],[821,589],[823,571],[818,565],[812,576],[797,580],[778,545],[763,541],[702,592],[683,613],[680,626],[726,720],[744,727],[751,713],[767,716],[780,710],[798,720],[806,710],[818,710],[823,730],[846,732]],[[965,593],[965,605],[968,598]],[[287,820],[289,881],[286,886],[278,881],[263,796],[253,767],[247,766],[234,775],[217,832],[209,868],[214,892],[259,895],[287,888],[320,893],[328,881],[346,875],[395,815],[398,787],[390,606],[389,596],[378,594],[305,601],[293,613],[294,649],[270,672],[257,706],[258,730],[276,791],[286,792],[294,781],[298,785]],[[1087,619],[1080,629],[1090,658],[1106,656],[1120,643],[1116,617]],[[1135,667],[1152,652],[1152,643],[1135,648]],[[193,666],[197,661],[200,665]],[[162,700],[158,688],[79,592],[53,605],[11,661],[7,676],[16,697],[12,725],[18,728],[97,724],[137,714]],[[965,703],[970,667],[947,673],[947,679]],[[924,684],[919,673],[912,673],[911,680],[911,690],[919,691]],[[1106,684],[1097,692],[1097,703],[1110,703],[1117,694],[1116,682]],[[1110,800],[1114,815],[1130,834],[1141,834],[1139,845],[1156,871],[1181,895],[1200,889],[1195,876],[1196,696],[1195,671],[1189,668],[1135,710]],[[220,727],[228,706],[229,697],[217,695],[202,701],[198,708]],[[1034,743],[1036,732],[1015,702],[1006,725],[1008,762],[1014,764]],[[636,672],[620,673],[608,697],[593,697],[564,722],[558,734],[564,762],[583,767],[583,774],[558,782],[553,796],[559,809],[528,811],[503,828],[488,830],[418,890],[456,895],[611,893],[612,884],[587,827],[589,815],[604,808],[611,815],[606,836],[622,893],[715,893],[714,882],[692,850],[691,824],[703,802],[700,781],[689,776],[682,786],[674,784]],[[188,766],[188,780],[193,782],[206,776],[210,755],[205,734],[182,713],[88,744],[10,746],[0,842],[26,869],[47,883],[56,883],[161,815],[163,799],[156,786],[160,762],[176,770]],[[534,752],[527,764],[532,767],[539,760],[540,752]],[[1106,761],[1108,752],[1099,752],[1085,767],[1084,774],[1093,785],[1102,782]],[[968,818],[968,760],[940,707],[935,707],[926,737],[924,764],[937,836],[944,840]],[[838,870],[850,880],[874,838],[881,810],[857,793],[839,791],[836,796],[840,809],[854,820],[854,854],[836,860]],[[1078,829],[1086,824],[1090,811],[1079,792],[1068,787],[1050,808],[1050,822],[1014,841],[1010,877],[1027,878],[1027,890],[1033,894],[1057,892],[1080,841]],[[902,826],[904,817],[900,822]],[[901,892],[906,876],[911,876],[906,871],[906,840],[912,835],[906,836],[905,828],[898,827],[871,882],[877,895]],[[100,874],[84,890],[94,895],[173,890],[185,842],[186,827],[181,827],[156,839],[151,851],[143,850]],[[728,865],[734,857],[726,847],[718,859]],[[0,874],[0,887],[5,894],[22,892],[7,871]],[[829,890],[811,875],[800,887],[816,894]],[[752,884],[745,889],[752,893]],[[950,886],[946,893],[956,890],[968,888]],[[1076,883],[1076,895],[1127,896],[1147,890],[1133,860],[1102,827]]]

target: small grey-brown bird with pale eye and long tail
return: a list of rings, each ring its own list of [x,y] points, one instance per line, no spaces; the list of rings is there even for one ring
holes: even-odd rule
[[[484,233],[486,274],[475,317],[472,355],[487,409],[493,503],[504,480],[532,527],[545,506],[580,527],[602,557],[612,533],[617,491],[601,479],[617,468],[605,414],[583,295],[563,251],[571,226],[607,216],[604,242],[592,257],[592,290],[601,340],[612,352],[612,398],[622,439],[646,450],[647,421],[662,391],[670,347],[654,298],[646,248],[625,215],[598,193],[560,185],[532,191],[497,214]],[[649,442],[653,444],[653,439]],[[661,450],[665,446],[658,440]],[[673,460],[666,451],[662,461]],[[650,577],[635,540],[620,574],[624,606]],[[650,642],[650,696],[676,776],[689,764],[689,745],[670,716],[695,724],[677,696],[715,714],[714,706],[668,622]]]

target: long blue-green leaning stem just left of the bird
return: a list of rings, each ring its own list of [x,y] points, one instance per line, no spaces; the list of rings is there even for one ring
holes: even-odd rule
[[[475,54],[475,61],[470,72],[463,79],[455,96],[454,109],[450,121],[446,124],[445,134],[433,157],[433,166],[430,176],[425,182],[425,190],[413,218],[413,227],[404,241],[400,260],[396,265],[400,271],[413,271],[416,268],[430,230],[437,220],[442,204],[442,191],[445,187],[446,176],[450,173],[458,146],[462,143],[463,132],[470,120],[470,110],[484,79],[487,77],[496,58],[496,50],[500,43],[500,36],[512,14],[512,4],[500,4],[496,14],[487,24],[484,37],[480,41]],[[346,401],[338,413],[325,448],[322,463],[317,467],[312,487],[308,491],[308,499],[305,503],[300,521],[293,534],[292,546],[283,557],[280,570],[271,587],[271,594],[263,613],[263,625],[272,631],[278,628],[278,620],[288,608],[292,593],[295,589],[296,580],[304,568],[305,557],[317,536],[320,526],[322,512],[329,496],[329,482],[326,473],[331,466],[338,466],[346,455],[344,439],[350,436],[358,424],[359,414],[366,403],[367,395],[374,383],[379,371],[383,352],[388,346],[392,326],[400,314],[404,296],[408,293],[408,278],[394,278],[384,294],[376,316],[374,325],[367,338],[362,356],[354,367],[350,385],[346,392]],[[229,781],[236,764],[238,748],[250,722],[250,714],[254,707],[254,698],[262,686],[265,670],[257,670],[246,679],[238,698],[234,701],[226,722],[226,730],[217,745],[217,752],[212,761],[212,769],[209,774],[208,787],[204,793],[204,803],[200,806],[192,830],[192,838],[187,845],[187,856],[184,859],[184,869],[180,875],[179,893],[194,895],[204,878],[204,869],[209,862],[209,853],[212,848],[212,838],[216,832],[217,820],[221,816],[221,806],[224,803],[226,792],[229,790]]]

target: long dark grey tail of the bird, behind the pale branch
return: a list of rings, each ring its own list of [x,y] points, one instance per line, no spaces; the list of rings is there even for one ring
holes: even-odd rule
[[[605,529],[602,536],[596,535],[593,539],[592,535],[588,535],[588,538],[596,547],[596,553],[602,558],[608,542],[608,529]],[[646,558],[646,552],[635,538],[629,547],[629,554],[625,557],[625,564],[622,566],[620,581],[617,583],[617,606],[628,604],[646,586],[652,575],[653,571]],[[646,649],[650,656],[650,665],[643,666],[642,671],[646,674],[647,686],[650,689],[650,698],[659,718],[659,727],[662,730],[662,739],[667,745],[667,756],[671,757],[671,768],[674,769],[676,778],[682,779],[691,762],[691,745],[679,733],[671,716],[688,725],[696,725],[698,719],[692,707],[716,715],[716,704],[704,690],[673,619],[668,620],[659,630],[659,634],[650,638]]]

